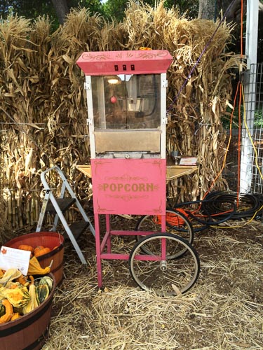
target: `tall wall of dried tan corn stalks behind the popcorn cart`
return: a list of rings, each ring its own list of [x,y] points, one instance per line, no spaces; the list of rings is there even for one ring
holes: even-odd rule
[[[90,200],[90,183],[75,168],[90,156],[83,74],[75,63],[83,51],[169,50],[174,62],[168,71],[168,151],[196,156],[200,166],[168,189],[178,201],[202,197],[222,167],[221,118],[231,99],[229,71],[236,66],[236,57],[224,53],[231,27],[222,24],[210,41],[217,25],[179,18],[162,2],[151,8],[135,1],[121,23],[105,22],[81,8],[72,10],[55,32],[48,18],[33,24],[18,17],[2,20],[0,189],[7,202],[5,220],[13,228],[36,223],[43,190],[39,175],[53,165],[65,172],[81,199]],[[223,189],[226,183],[219,177],[215,186]]]

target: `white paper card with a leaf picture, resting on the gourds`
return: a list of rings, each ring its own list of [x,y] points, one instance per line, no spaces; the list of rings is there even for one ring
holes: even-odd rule
[[[29,267],[30,251],[2,246],[0,251],[0,269],[19,269],[24,276]]]

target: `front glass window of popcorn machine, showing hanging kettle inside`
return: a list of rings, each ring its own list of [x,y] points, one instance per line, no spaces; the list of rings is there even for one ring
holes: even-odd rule
[[[157,129],[160,74],[92,76],[95,130]]]

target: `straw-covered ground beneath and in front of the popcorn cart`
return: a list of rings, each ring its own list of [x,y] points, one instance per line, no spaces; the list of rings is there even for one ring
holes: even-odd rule
[[[116,216],[119,228],[135,225]],[[131,280],[128,262],[104,261],[104,292],[97,289],[95,239],[81,236],[81,265],[66,242],[64,279],[53,299],[44,350],[234,350],[263,348],[262,223],[196,233],[201,275],[188,293],[158,297]],[[21,234],[21,232],[20,232]],[[119,237],[116,249],[135,241]]]

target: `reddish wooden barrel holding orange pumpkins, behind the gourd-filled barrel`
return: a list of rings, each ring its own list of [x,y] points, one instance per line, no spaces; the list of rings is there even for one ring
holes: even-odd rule
[[[39,264],[43,268],[50,265],[50,262],[53,260],[51,272],[55,276],[55,283],[59,285],[63,278],[64,237],[58,232],[32,232],[11,239],[4,246],[18,248],[20,244],[27,244],[34,248],[36,246],[50,248],[50,253],[38,256],[37,260],[39,260]]]

